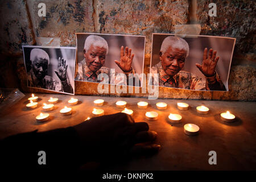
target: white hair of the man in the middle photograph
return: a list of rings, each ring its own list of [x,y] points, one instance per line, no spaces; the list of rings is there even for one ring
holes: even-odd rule
[[[87,52],[90,46],[98,46],[106,49],[106,54],[109,52],[109,45],[104,38],[98,35],[90,35],[84,42],[84,50]]]

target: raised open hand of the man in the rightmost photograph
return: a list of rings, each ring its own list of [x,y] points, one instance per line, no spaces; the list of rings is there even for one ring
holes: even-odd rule
[[[215,68],[218,63],[219,56],[216,57],[217,51],[213,51],[211,48],[209,51],[209,55],[207,56],[208,49],[204,49],[203,63],[202,65],[196,63],[196,67],[200,69],[200,71],[206,76],[211,77],[214,76]]]

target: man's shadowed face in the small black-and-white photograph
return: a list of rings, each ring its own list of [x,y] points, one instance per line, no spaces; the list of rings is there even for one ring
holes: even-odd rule
[[[47,75],[48,72],[48,60],[42,57],[35,57],[32,61],[32,69],[35,76],[41,80]]]

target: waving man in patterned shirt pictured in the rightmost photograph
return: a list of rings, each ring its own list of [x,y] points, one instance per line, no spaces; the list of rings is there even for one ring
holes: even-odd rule
[[[153,84],[191,90],[226,90],[215,71],[220,57],[216,57],[217,51],[213,49],[209,50],[209,55],[207,52],[205,48],[202,65],[196,64],[205,76],[206,81],[203,81],[193,73],[181,71],[189,55],[188,43],[177,36],[168,36],[163,40],[159,63],[151,68],[151,73],[159,74],[159,82]]]

